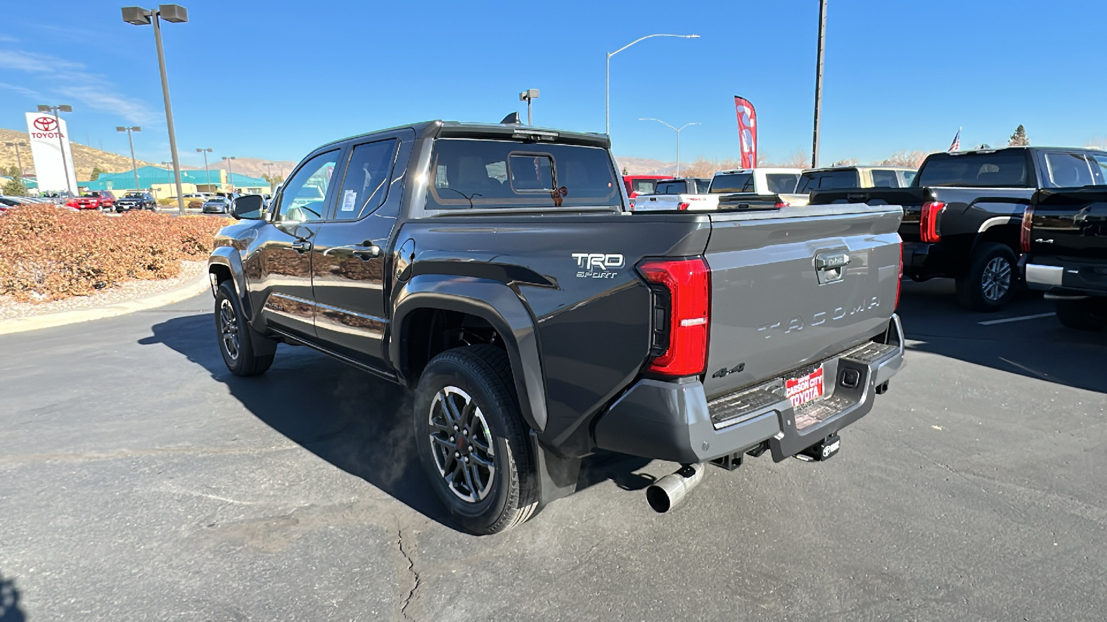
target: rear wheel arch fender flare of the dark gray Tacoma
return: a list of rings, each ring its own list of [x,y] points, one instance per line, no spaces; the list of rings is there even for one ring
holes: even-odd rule
[[[389,340],[394,369],[402,370],[404,322],[412,311],[442,309],[482,318],[504,338],[523,418],[539,434],[546,429],[546,383],[535,320],[515,290],[489,279],[418,274],[396,292],[395,300]]]

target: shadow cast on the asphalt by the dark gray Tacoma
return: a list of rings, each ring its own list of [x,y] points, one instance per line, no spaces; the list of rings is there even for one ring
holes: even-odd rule
[[[411,395],[401,386],[310,348],[280,345],[261,376],[227,371],[215,343],[210,313],[155,324],[139,344],[164,344],[204,367],[254,416],[331,465],[372,484],[397,501],[456,529],[415,454]],[[649,460],[621,454],[584,462],[578,490],[611,479],[625,490],[650,476],[633,471]],[[7,621],[4,621],[7,622]]]

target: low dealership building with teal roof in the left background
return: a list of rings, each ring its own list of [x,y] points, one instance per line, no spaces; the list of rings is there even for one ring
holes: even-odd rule
[[[114,195],[121,195],[135,188],[135,172],[125,170],[123,173],[101,173],[93,182],[77,182],[77,187],[82,190],[110,190]],[[260,177],[232,174],[229,178],[227,172],[221,168],[210,170],[182,170],[180,188],[184,193],[241,193],[246,195],[269,194],[269,182]],[[176,196],[176,184],[173,179],[173,170],[158,166],[142,166],[138,168],[138,188],[152,190],[155,198],[166,198]]]

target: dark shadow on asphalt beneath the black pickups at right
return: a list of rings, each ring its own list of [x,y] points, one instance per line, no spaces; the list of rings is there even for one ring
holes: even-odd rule
[[[910,349],[958,359],[1076,388],[1107,393],[1103,360],[1107,332],[1065,328],[1042,294],[1021,291],[996,313],[975,313],[956,302],[952,279],[903,282],[898,312]],[[1013,322],[982,324],[1024,318]]]

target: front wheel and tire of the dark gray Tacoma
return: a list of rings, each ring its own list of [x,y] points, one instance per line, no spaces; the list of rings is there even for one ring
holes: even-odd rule
[[[219,283],[216,290],[215,331],[223,362],[230,373],[254,376],[273,364],[277,342],[250,328],[230,281]]]

